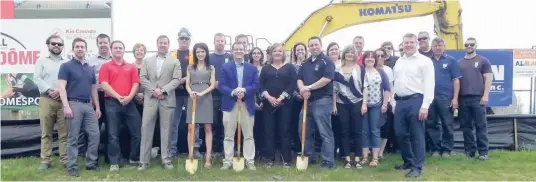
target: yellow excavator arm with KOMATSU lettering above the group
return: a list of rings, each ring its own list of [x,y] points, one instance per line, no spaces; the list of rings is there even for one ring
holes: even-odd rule
[[[323,37],[353,25],[431,14],[434,14],[435,32],[445,40],[445,48],[463,49],[461,7],[457,0],[433,2],[360,2],[353,0],[330,3],[309,15],[283,42],[283,46],[285,50],[290,50],[297,42],[307,43],[309,37]]]

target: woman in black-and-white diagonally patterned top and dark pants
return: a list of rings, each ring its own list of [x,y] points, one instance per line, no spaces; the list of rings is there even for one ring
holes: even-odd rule
[[[342,65],[335,68],[333,84],[333,113],[339,116],[340,121],[340,155],[344,157],[344,168],[362,168],[359,157],[363,155],[362,146],[362,121],[359,114],[363,104],[363,79],[365,68],[356,63],[355,47],[348,45],[342,51]],[[350,141],[354,147],[350,147]],[[355,159],[350,158],[350,153],[355,153]]]

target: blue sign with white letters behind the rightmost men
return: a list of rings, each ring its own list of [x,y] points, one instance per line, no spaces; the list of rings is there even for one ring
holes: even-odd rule
[[[448,55],[460,60],[465,50],[446,51]],[[514,53],[512,50],[477,50],[477,54],[488,58],[493,71],[493,81],[489,93],[489,107],[510,106],[513,95]]]

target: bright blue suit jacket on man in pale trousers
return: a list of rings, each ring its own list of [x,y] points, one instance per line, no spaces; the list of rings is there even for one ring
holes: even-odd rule
[[[235,62],[229,61],[223,64],[218,77],[218,90],[221,92],[221,109],[222,111],[230,112],[238,99],[231,94],[233,90],[238,87]],[[249,115],[254,115],[255,94],[259,89],[257,68],[250,63],[244,62],[242,78],[242,87],[246,89],[246,95],[243,98],[243,102],[246,105]]]

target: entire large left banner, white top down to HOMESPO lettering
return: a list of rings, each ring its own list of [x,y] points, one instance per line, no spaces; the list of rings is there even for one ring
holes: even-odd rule
[[[48,56],[50,35],[63,38],[62,55],[70,59],[72,41],[87,43],[87,56],[98,53],[96,37],[110,35],[110,18],[94,19],[2,19],[0,41],[0,107],[2,120],[38,119],[39,90],[33,72],[40,56]]]

